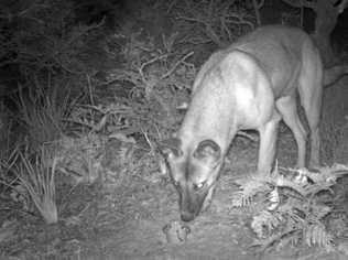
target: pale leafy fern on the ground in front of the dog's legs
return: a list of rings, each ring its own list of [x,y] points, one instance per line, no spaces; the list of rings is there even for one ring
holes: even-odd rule
[[[233,206],[258,206],[251,221],[253,246],[265,250],[303,242],[333,250],[334,236],[325,218],[333,212],[333,185],[348,174],[348,166],[322,167],[319,172],[276,167],[268,176],[238,181]],[[255,203],[258,201],[258,203]]]

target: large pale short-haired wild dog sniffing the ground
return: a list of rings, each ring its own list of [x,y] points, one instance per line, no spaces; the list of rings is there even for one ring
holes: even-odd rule
[[[184,221],[193,220],[209,204],[239,130],[259,132],[257,171],[267,174],[274,163],[278,126],[283,119],[297,144],[297,167],[306,166],[307,132],[298,117],[297,93],[311,131],[309,164],[319,164],[323,79],[319,51],[309,35],[295,28],[261,26],[208,58],[166,150]]]

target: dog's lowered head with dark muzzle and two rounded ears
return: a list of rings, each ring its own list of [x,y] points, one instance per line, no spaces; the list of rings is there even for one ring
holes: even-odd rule
[[[181,217],[193,220],[208,201],[215,188],[222,164],[220,147],[213,140],[199,141],[196,145],[183,145],[173,139],[164,153],[173,184],[180,195]]]

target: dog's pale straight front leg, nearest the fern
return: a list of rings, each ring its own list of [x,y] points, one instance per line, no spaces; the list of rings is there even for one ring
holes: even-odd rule
[[[280,115],[274,111],[270,121],[259,128],[260,147],[259,147],[259,161],[258,174],[269,174],[275,156],[275,145],[278,136],[278,126],[281,120]]]

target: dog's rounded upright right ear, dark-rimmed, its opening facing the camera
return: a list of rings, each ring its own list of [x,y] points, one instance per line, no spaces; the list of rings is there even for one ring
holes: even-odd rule
[[[206,162],[217,162],[221,156],[221,149],[219,144],[213,140],[204,140],[199,142],[194,152],[194,158]]]

